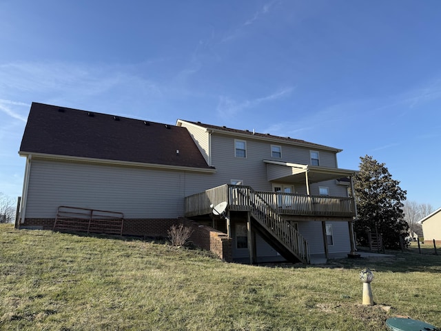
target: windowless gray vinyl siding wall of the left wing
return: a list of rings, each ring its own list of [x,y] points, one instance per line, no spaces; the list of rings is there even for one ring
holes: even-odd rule
[[[183,216],[183,197],[205,190],[209,174],[32,161],[27,218],[55,217],[59,205],[123,212],[125,218]]]

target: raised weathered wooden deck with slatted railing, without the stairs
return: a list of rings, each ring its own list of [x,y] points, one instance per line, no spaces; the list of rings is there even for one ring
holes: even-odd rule
[[[211,204],[223,201],[228,203],[229,210],[251,211],[249,197],[252,188],[249,186],[220,185],[205,192],[185,197],[185,216],[193,217],[212,212]],[[353,217],[355,216],[354,201],[345,197],[323,197],[284,192],[254,192],[271,208],[281,215],[321,216],[321,217]]]

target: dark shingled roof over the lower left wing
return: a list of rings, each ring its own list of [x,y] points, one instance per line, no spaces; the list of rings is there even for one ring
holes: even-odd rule
[[[20,154],[32,153],[212,168],[186,128],[43,103],[32,103],[21,141]]]

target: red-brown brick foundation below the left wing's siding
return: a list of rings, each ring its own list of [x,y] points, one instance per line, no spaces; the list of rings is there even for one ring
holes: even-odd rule
[[[55,219],[25,219],[25,223],[19,223],[19,229],[52,230]],[[83,221],[82,221],[83,222]],[[201,225],[190,219],[124,219],[123,235],[139,237],[163,237],[167,238],[167,231],[173,224],[183,223],[192,228],[192,237],[189,238],[194,245],[214,252],[220,259],[233,261],[232,239],[227,234]]]

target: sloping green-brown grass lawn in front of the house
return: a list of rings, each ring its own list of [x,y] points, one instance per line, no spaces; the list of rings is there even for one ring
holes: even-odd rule
[[[440,328],[441,256],[422,251],[239,265],[163,243],[0,225],[0,330],[385,330],[396,316]],[[372,307],[361,305],[363,268],[375,277]]]

